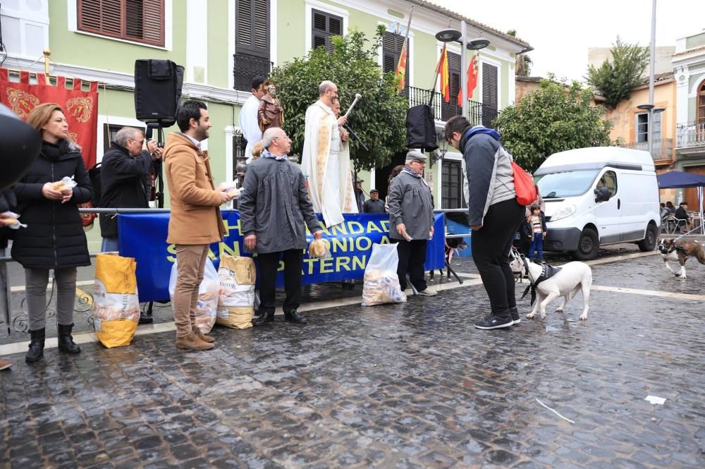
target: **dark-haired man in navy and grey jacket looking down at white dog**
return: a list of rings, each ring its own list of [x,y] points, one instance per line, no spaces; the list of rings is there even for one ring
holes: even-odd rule
[[[519,324],[509,252],[525,208],[517,202],[512,155],[496,130],[470,126],[463,116],[448,119],[446,140],[462,152],[472,260],[489,296],[489,314],[474,325],[498,329]]]

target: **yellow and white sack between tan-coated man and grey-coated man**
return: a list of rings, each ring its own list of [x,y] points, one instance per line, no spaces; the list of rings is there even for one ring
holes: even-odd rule
[[[221,255],[218,269],[221,293],[216,324],[233,329],[252,327],[257,271],[252,257]]]

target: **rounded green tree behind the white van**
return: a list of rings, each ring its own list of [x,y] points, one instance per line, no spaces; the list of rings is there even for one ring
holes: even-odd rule
[[[556,152],[611,144],[611,124],[602,118],[603,107],[591,105],[591,90],[553,78],[541,80],[539,90],[503,109],[494,121],[503,145],[527,171]]]

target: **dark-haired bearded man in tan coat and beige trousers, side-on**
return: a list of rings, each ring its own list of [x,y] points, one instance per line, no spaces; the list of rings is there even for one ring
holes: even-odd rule
[[[171,197],[171,217],[167,243],[176,245],[178,276],[173,297],[176,323],[176,348],[208,350],[213,337],[196,327],[198,287],[208,257],[209,245],[226,234],[219,206],[232,196],[213,185],[208,152],[201,151],[201,141],[208,138],[206,105],[200,101],[184,102],[176,111],[180,133],[166,139],[164,164]]]

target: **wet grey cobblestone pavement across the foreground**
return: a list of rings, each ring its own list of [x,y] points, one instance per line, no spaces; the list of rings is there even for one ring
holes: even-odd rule
[[[171,332],[32,366],[11,355],[0,467],[704,467],[705,266],[691,262],[686,281],[658,256],[594,265],[596,286],[679,294],[596,289],[587,322],[579,295],[480,331],[474,285],[215,329],[208,352],[176,351]]]

